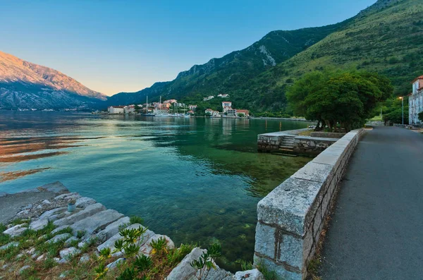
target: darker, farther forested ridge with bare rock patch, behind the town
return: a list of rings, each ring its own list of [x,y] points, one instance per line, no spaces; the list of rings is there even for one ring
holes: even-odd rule
[[[246,80],[276,66],[307,49],[332,32],[347,25],[349,20],[321,28],[293,31],[272,31],[250,47],[233,51],[219,59],[211,59],[178,74],[170,82],[154,83],[139,92],[121,92],[109,97],[109,104],[144,102],[145,97],[181,98],[187,95],[217,95],[238,90]]]

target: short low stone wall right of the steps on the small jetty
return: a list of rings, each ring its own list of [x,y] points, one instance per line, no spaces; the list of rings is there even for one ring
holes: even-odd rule
[[[338,140],[339,139],[336,138],[296,136],[294,140],[293,150],[295,154],[316,156]]]

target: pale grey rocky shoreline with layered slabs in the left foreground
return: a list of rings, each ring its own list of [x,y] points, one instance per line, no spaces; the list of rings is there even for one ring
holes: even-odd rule
[[[73,212],[68,212],[67,205],[70,200],[75,202],[75,211]],[[2,222],[7,225],[3,234],[11,238],[11,242],[0,246],[0,252],[1,250],[11,250],[13,246],[18,246],[18,242],[13,241],[13,238],[18,238],[25,231],[42,231],[47,226],[51,226],[52,223],[54,229],[49,234],[39,236],[37,243],[40,243],[40,241],[47,245],[63,243],[63,248],[60,248],[58,250],[59,253],[53,258],[58,266],[68,263],[70,257],[73,259],[78,258],[80,263],[88,262],[90,255],[84,252],[87,251],[84,248],[87,248],[88,245],[92,246],[92,252],[96,255],[99,255],[99,252],[104,248],[110,248],[111,252],[113,252],[115,241],[122,238],[119,233],[121,229],[145,229],[142,224],[131,224],[129,217],[125,217],[125,215],[114,209],[106,209],[104,205],[90,197],[82,197],[78,193],[69,192],[60,182],[50,183],[16,194],[2,193],[0,194],[0,202],[8,202],[9,205],[9,207],[5,207],[5,211],[2,213]],[[26,202],[30,203],[25,205]],[[11,207],[11,205],[22,206]],[[151,255],[152,243],[157,242],[159,239],[166,240],[168,249],[175,248],[175,244],[168,236],[146,229],[145,233],[137,241],[138,245],[140,245],[138,255]],[[203,252],[207,251],[201,248],[193,248],[164,279],[197,279],[195,277],[197,270],[190,264],[193,260],[200,258]],[[35,247],[32,247],[18,252],[16,260],[27,257],[27,259],[32,259],[32,262],[37,263],[45,260],[47,258],[46,255],[46,253],[38,252]],[[114,269],[120,263],[125,262],[122,252],[114,252],[111,257],[111,262],[107,264],[107,269]],[[25,269],[32,269],[32,267],[27,264],[16,267],[16,265],[13,265],[13,261],[1,260],[0,258],[0,279],[7,279],[4,277],[6,275],[10,276],[11,273],[19,279]],[[57,277],[66,279],[66,272],[61,272]],[[234,275],[231,272],[220,269],[216,265],[215,269],[210,269],[205,279],[259,280],[264,279],[264,276],[257,269],[237,272]]]

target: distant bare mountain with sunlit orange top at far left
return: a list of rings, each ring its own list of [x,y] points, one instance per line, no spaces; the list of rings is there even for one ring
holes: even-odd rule
[[[0,108],[97,106],[106,95],[54,69],[0,51]]]

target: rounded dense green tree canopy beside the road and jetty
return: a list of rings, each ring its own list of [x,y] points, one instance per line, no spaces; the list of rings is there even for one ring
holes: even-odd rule
[[[377,73],[314,71],[295,82],[286,97],[297,116],[349,131],[362,127],[392,94],[391,81]]]

